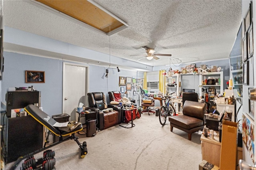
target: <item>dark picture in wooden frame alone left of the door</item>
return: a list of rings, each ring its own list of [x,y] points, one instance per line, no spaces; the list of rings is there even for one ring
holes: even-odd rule
[[[45,83],[44,71],[25,71],[26,83]]]

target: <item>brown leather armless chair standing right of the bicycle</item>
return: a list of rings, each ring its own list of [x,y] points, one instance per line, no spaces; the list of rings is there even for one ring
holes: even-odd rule
[[[176,127],[188,133],[188,140],[191,140],[192,133],[204,128],[206,103],[185,101],[183,115],[169,117],[171,132]]]

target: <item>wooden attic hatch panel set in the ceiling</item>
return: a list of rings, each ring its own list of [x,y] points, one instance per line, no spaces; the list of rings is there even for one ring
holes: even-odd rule
[[[87,0],[36,0],[105,33],[124,24]]]

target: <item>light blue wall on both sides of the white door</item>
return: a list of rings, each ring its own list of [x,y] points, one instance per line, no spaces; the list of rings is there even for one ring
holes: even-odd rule
[[[2,102],[9,87],[29,87],[41,91],[41,106],[52,116],[62,113],[62,66],[59,59],[44,58],[20,53],[4,52],[4,73],[2,80]],[[74,63],[74,62],[72,62]],[[81,63],[79,63],[81,64]],[[89,92],[120,91],[119,76],[136,77],[136,71],[109,69],[108,78],[104,77],[107,67],[89,65]],[[45,71],[45,83],[25,83],[25,70]],[[143,76],[143,73],[140,73]],[[79,83],[79,80],[74,83]],[[126,96],[126,95],[124,95]],[[87,97],[87,96],[86,96]],[[132,94],[128,97],[133,97]],[[134,97],[137,99],[138,95]]]

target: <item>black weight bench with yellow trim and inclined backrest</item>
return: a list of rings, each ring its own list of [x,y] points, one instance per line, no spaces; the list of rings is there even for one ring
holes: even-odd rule
[[[38,107],[30,104],[30,105],[25,107],[25,111],[28,113],[28,115],[30,115],[31,117],[36,119],[36,121],[38,121],[40,124],[42,124],[44,127],[46,127],[49,130],[45,142],[47,142],[50,132],[52,132],[56,136],[59,136],[60,140],[58,142],[54,142],[53,144],[50,144],[47,147],[45,147],[46,146],[46,143],[45,143],[43,148],[41,148],[39,150],[36,150],[35,152],[32,152],[30,154],[27,154],[26,156],[22,156],[22,157],[18,158],[18,160],[12,166],[11,170],[12,169],[14,170],[15,167],[18,166],[18,164],[21,160],[23,160],[25,158],[28,158],[29,156],[31,156],[33,154],[39,153],[43,150],[46,150],[46,149],[48,149],[52,146],[60,144],[61,142],[64,142],[64,141],[69,140],[69,139],[74,139],[76,141],[76,143],[80,147],[80,151],[81,151],[80,157],[81,158],[85,157],[85,155],[87,154],[86,142],[84,141],[83,143],[80,143],[78,141],[78,137],[75,135],[76,132],[79,132],[83,129],[82,124],[78,125],[78,127],[74,128],[74,130],[72,130],[70,132],[65,132],[65,131],[59,130],[58,127],[54,127],[53,125],[56,123],[56,121],[54,119],[52,119],[49,115],[47,115],[46,113],[44,113],[43,111],[38,109]],[[65,138],[63,140],[63,136],[69,136],[69,137]]]

